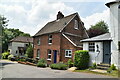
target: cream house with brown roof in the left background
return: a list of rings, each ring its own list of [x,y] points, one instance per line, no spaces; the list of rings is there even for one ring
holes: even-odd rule
[[[33,38],[18,36],[10,41],[8,51],[14,56],[24,56],[29,43],[33,44]]]

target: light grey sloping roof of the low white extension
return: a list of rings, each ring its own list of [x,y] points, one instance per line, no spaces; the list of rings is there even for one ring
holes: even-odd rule
[[[112,40],[110,33],[105,33],[96,37],[88,38],[81,40],[82,42],[87,42],[87,41],[105,41],[105,40]]]

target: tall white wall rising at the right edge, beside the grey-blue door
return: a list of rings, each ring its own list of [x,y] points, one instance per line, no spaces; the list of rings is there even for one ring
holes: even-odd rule
[[[112,43],[111,43],[111,64],[115,64],[118,66],[118,59],[119,59],[119,52],[118,52],[118,39],[120,40],[119,32],[120,32],[120,23],[119,23],[119,10],[118,10],[118,4],[115,3],[110,5],[110,29],[111,29],[111,37],[112,37]]]

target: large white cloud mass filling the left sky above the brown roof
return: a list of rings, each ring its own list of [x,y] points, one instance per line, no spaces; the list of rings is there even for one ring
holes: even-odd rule
[[[66,6],[62,2],[31,0],[30,2],[23,1],[20,5],[19,0],[16,2],[11,0],[9,5],[7,3],[4,1],[4,4],[0,4],[0,12],[10,20],[8,27],[19,28],[31,35],[34,35],[48,21],[55,20],[58,11],[66,14],[74,12],[72,7]],[[29,6],[25,7],[23,3]]]

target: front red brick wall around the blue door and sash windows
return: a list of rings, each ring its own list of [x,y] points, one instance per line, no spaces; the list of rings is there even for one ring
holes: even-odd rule
[[[40,38],[40,45],[37,45],[37,40]],[[42,35],[34,38],[34,58],[36,58],[37,49],[40,49],[40,58],[44,58],[47,60],[48,53],[47,50],[52,50],[52,60],[48,61],[48,63],[53,63],[53,50],[57,50],[60,52],[60,33],[52,34],[52,44],[48,44],[48,35]],[[59,55],[57,55],[57,62],[59,62]]]

